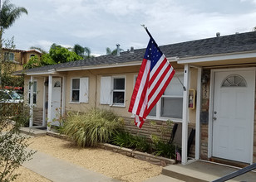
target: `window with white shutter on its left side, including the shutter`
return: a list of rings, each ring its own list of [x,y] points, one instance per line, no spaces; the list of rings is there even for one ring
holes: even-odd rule
[[[101,104],[125,106],[126,77],[101,77]]]

